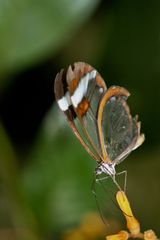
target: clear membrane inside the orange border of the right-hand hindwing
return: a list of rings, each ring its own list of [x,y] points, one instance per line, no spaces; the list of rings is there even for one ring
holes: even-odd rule
[[[112,97],[105,105],[102,118],[105,147],[115,161],[126,149],[132,151],[138,136],[136,121],[132,119],[123,97]]]

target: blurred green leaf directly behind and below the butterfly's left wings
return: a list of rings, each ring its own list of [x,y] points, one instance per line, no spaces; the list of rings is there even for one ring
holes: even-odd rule
[[[23,183],[43,228],[75,224],[96,204],[91,193],[96,163],[57,108],[46,117],[26,162]]]

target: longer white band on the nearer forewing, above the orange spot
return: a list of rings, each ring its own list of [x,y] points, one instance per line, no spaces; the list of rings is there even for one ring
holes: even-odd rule
[[[91,79],[96,77],[96,70],[92,70],[81,78],[76,90],[71,96],[73,106],[77,108],[78,104],[82,101],[83,97],[87,93],[88,83]]]

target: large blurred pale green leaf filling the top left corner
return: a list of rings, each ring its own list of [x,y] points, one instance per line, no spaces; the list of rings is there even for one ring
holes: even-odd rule
[[[0,1],[0,73],[56,51],[91,15],[97,0]]]

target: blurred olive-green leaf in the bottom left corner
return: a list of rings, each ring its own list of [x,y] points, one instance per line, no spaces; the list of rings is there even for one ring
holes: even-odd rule
[[[11,225],[18,230],[17,234],[13,232],[13,239],[39,240],[38,225],[25,201],[19,170],[12,144],[0,123],[0,227]],[[26,231],[20,231],[23,227]]]

